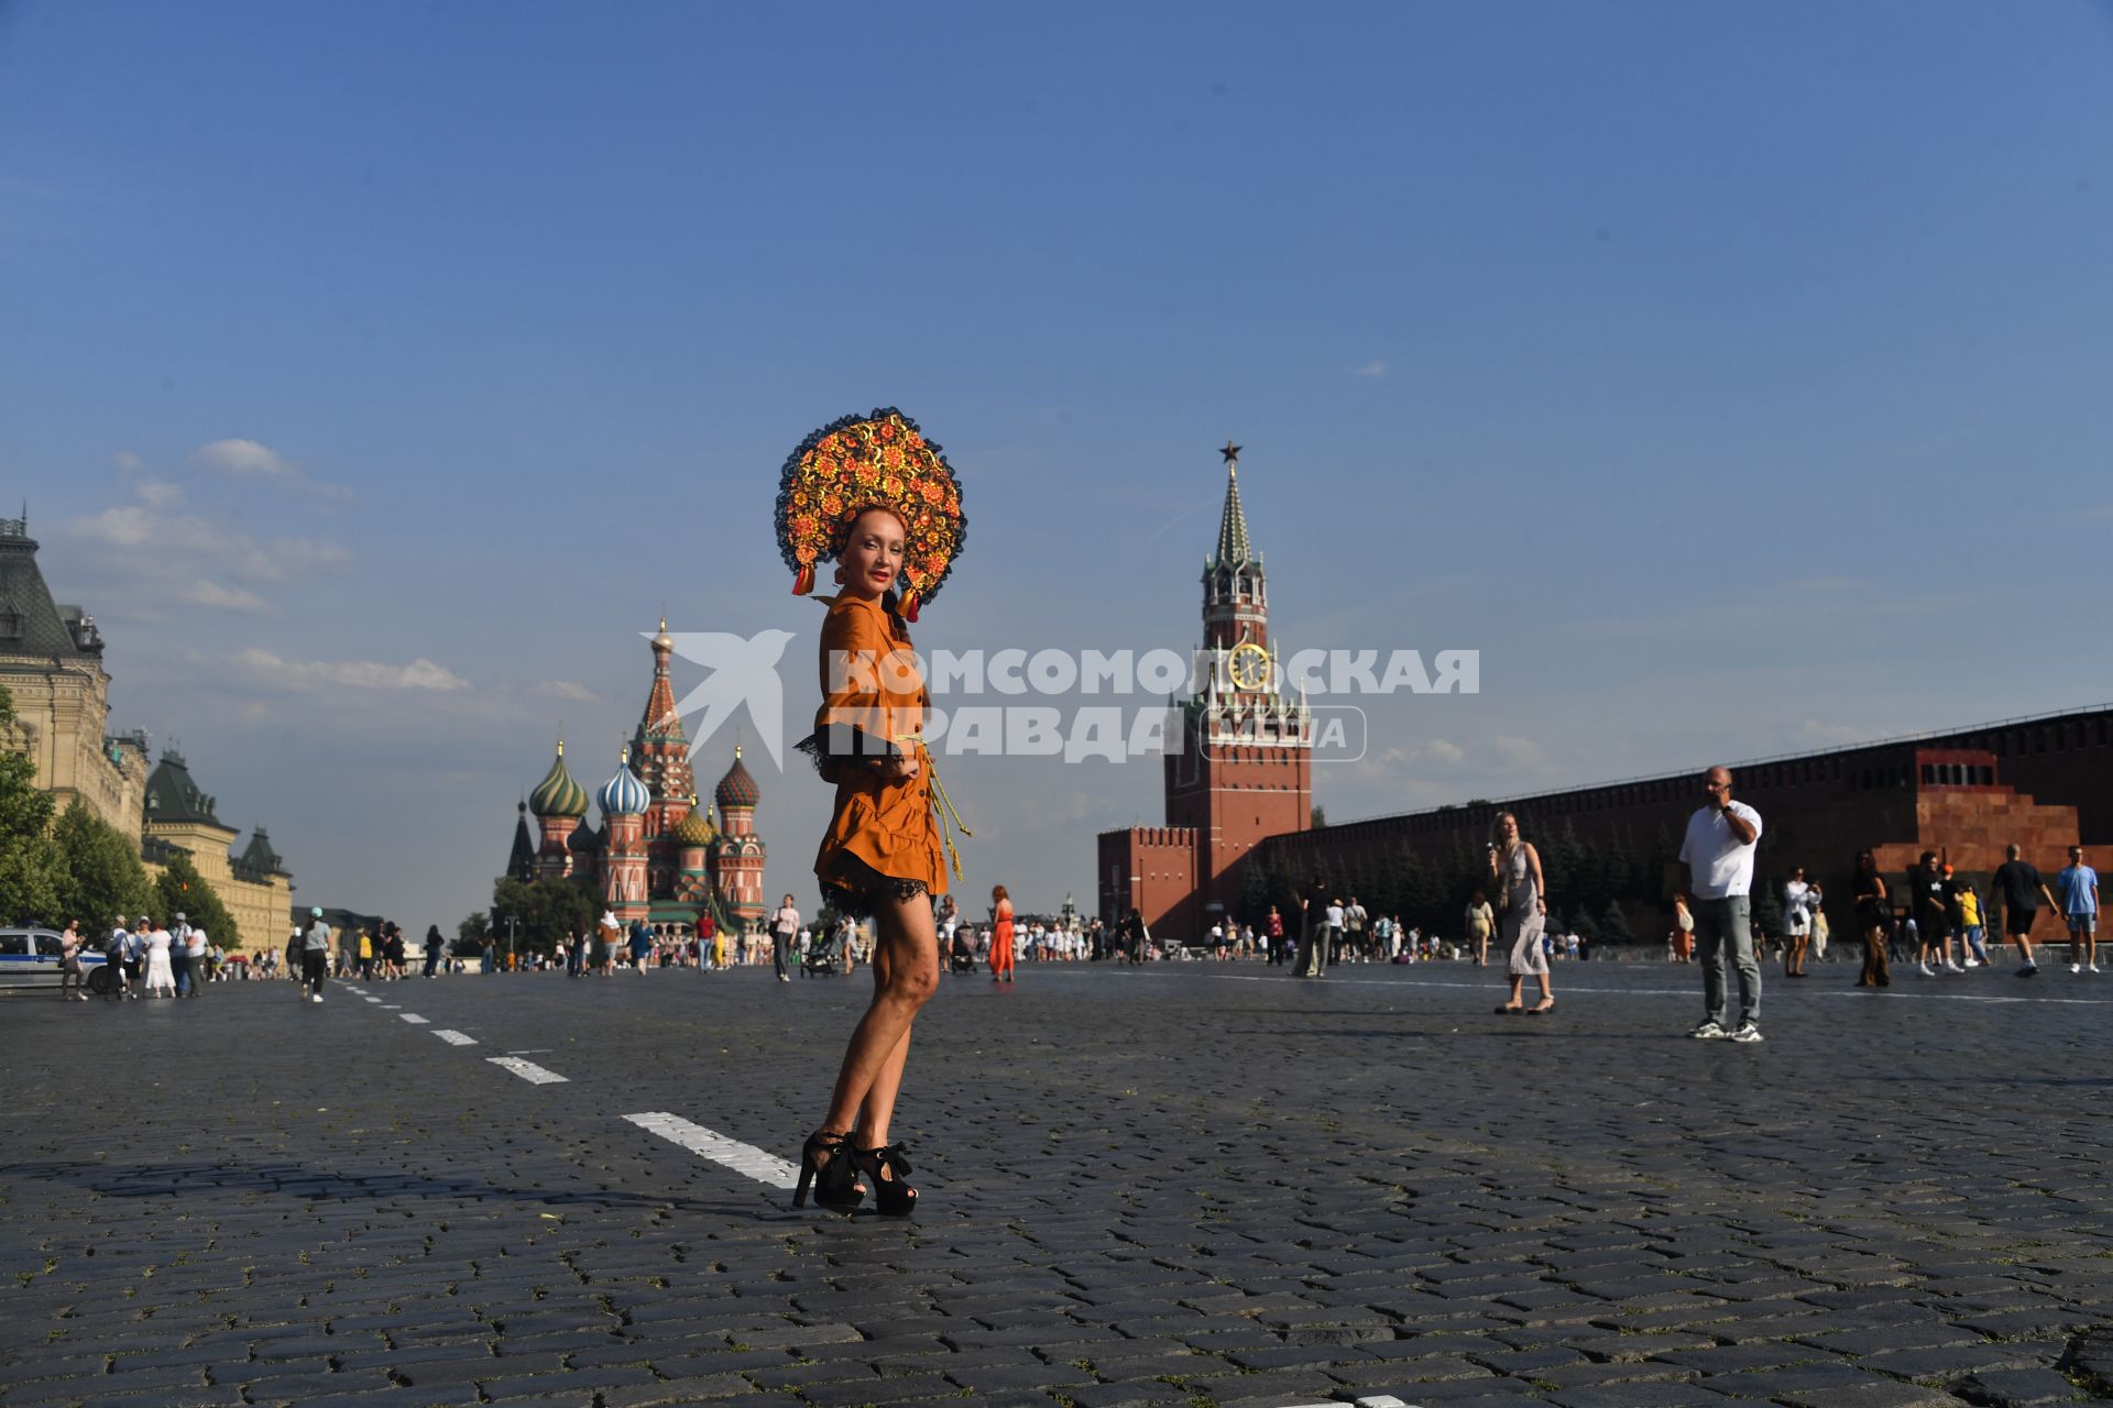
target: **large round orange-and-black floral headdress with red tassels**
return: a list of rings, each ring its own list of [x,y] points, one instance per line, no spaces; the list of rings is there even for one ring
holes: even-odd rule
[[[814,564],[837,557],[866,509],[902,519],[904,621],[938,595],[968,534],[961,481],[917,422],[883,407],[845,416],[786,456],[778,483],[778,551],[792,568],[792,595],[814,591]]]

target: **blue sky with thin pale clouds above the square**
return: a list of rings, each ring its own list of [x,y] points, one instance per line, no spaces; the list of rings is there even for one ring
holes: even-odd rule
[[[2107,133],[2092,4],[11,4],[0,502],[116,722],[418,925],[663,604],[811,707],[775,471],[881,403],[972,519],[921,644],[1194,644],[1232,435],[1287,648],[1479,648],[1338,819],[2098,703]],[[1029,906],[1160,819],[949,785]]]

